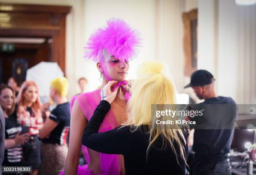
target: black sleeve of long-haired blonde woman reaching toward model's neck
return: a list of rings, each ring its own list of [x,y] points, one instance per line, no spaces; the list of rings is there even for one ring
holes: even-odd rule
[[[110,110],[110,107],[108,101],[102,100],[100,102],[92,118],[87,123],[82,138],[82,144],[100,153],[125,155],[132,142],[129,126],[98,133],[100,124]]]

